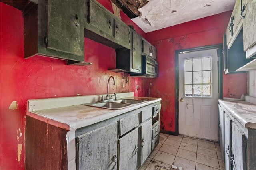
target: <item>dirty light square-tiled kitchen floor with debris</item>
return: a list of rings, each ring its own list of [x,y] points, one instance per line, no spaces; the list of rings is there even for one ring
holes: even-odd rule
[[[140,170],[172,170],[171,165],[182,170],[224,170],[218,143],[160,133],[160,141]]]

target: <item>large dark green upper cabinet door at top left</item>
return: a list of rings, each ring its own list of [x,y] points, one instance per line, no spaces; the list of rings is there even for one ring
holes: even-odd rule
[[[47,1],[47,48],[82,55],[80,1]],[[83,43],[82,43],[83,44]]]

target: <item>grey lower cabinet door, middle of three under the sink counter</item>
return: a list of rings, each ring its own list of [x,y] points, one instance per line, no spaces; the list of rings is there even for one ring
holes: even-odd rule
[[[119,139],[119,170],[136,170],[138,155],[138,128]]]

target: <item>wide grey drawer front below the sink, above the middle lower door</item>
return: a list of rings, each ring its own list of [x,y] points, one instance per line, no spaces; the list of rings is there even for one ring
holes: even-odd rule
[[[123,119],[120,119],[120,128],[119,128],[120,136],[127,133],[129,130],[131,130],[132,128],[135,128],[138,125],[139,125],[138,113],[125,117]]]

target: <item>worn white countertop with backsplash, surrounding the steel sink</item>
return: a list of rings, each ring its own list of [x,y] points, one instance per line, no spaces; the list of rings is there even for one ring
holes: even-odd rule
[[[126,93],[122,93],[122,94],[126,94]],[[138,109],[140,107],[143,107],[161,100],[161,98],[134,97],[133,93],[132,93],[132,96],[130,94],[128,95],[117,94],[117,95],[126,99],[136,99],[136,100],[148,99],[148,101],[134,104],[124,109],[112,110],[112,109],[103,109],[103,108],[81,105],[84,103],[97,101],[95,99],[90,99],[90,100],[81,99],[81,97],[92,98],[92,96],[36,99],[36,100],[28,101],[29,107],[28,107],[27,115],[31,117],[35,117],[36,119],[40,119],[40,117],[43,117],[43,118],[46,118],[46,120],[41,119],[42,121],[47,121],[47,123],[53,124],[61,128],[64,127],[67,130],[74,130],[77,128],[92,125],[94,123],[98,123],[100,121],[104,121],[106,119],[110,119],[120,114],[132,111],[134,109]],[[77,98],[79,99],[80,103],[74,102]],[[71,101],[73,103],[71,103]],[[58,106],[56,104],[54,107],[52,103],[67,103],[67,104],[58,105]],[[68,105],[68,103],[71,103],[72,105]],[[47,107],[47,105],[49,107]],[[47,119],[48,120],[50,119],[52,121],[48,121]],[[68,126],[65,126],[62,124],[66,124]]]

